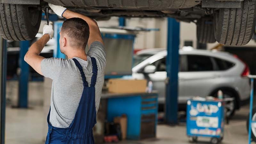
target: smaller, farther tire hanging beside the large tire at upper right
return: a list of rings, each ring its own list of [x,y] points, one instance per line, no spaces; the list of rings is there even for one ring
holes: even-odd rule
[[[202,44],[215,43],[214,28],[212,18],[201,18],[197,20],[196,37]]]

